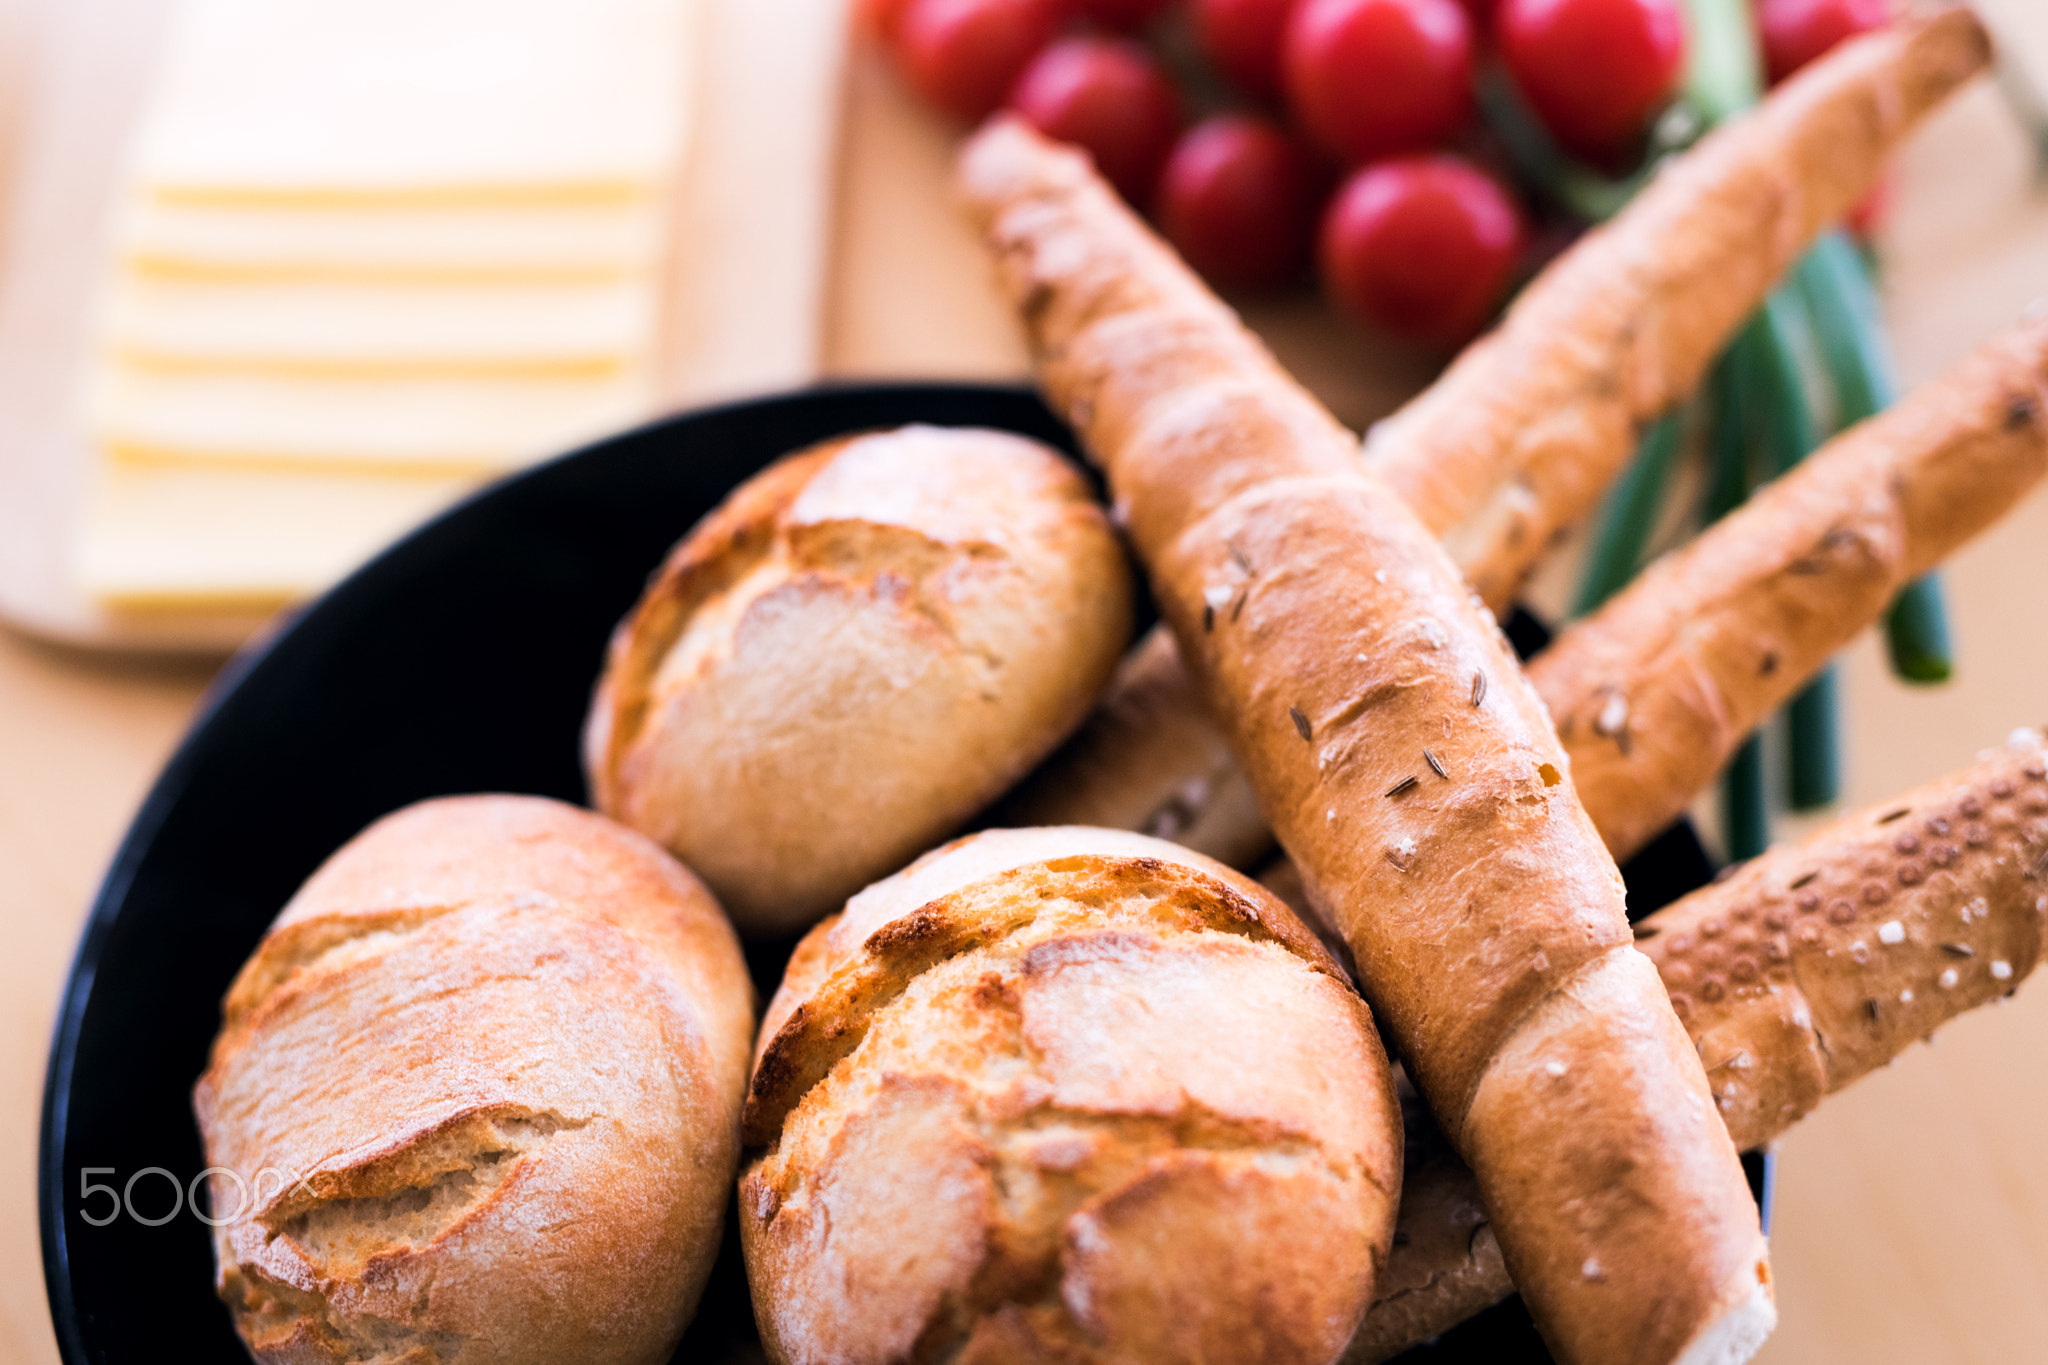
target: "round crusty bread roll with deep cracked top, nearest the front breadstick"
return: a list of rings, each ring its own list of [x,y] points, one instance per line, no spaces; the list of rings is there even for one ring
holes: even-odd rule
[[[961,839],[813,929],[745,1134],[780,1365],[1327,1363],[1401,1166],[1372,1019],[1300,921],[1098,829]]]

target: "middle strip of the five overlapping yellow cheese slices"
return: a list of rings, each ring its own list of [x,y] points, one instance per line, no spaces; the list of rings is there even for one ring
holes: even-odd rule
[[[215,284],[123,278],[109,350],[160,370],[596,372],[655,342],[649,280],[608,284]]]

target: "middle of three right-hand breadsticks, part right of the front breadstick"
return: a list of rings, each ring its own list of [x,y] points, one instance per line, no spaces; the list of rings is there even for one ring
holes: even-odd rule
[[[1909,581],[2048,473],[2048,319],[1980,348],[1651,565],[1530,663],[1626,860]]]

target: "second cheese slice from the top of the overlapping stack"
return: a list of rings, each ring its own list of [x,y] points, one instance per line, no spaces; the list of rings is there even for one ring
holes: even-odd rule
[[[211,282],[604,282],[662,264],[659,205],[223,209],[143,199],[121,229],[139,278]]]

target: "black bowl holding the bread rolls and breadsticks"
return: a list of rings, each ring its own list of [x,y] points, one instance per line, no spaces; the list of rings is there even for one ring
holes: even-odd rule
[[[604,641],[670,544],[776,456],[903,422],[1073,452],[1022,389],[817,389],[674,417],[479,493],[227,667],[115,855],[57,1017],[39,1183],[70,1365],[158,1361],[166,1342],[248,1359],[186,1195],[205,1164],[190,1087],[221,993],[299,882],[428,796],[584,800],[578,733]],[[1661,902],[1712,868],[1679,831],[1630,872]],[[764,997],[786,950],[750,943]],[[1432,1359],[1546,1359],[1526,1324],[1509,1302]],[[731,1234],[678,1359],[760,1359]]]

